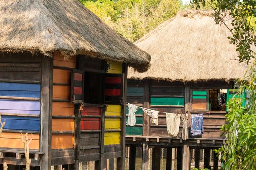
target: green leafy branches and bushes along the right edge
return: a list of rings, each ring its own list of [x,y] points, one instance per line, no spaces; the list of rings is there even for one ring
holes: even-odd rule
[[[235,95],[242,96],[248,90],[248,104],[243,107],[236,97],[228,102],[228,124],[222,127],[227,142],[216,152],[221,153],[225,170],[256,170],[256,0],[193,0],[191,3],[197,9],[206,4],[214,9],[215,22],[232,33],[227,38],[236,45],[239,61],[250,64],[251,69],[244,78],[236,81],[239,89]],[[231,26],[225,23],[226,15],[232,19]]]

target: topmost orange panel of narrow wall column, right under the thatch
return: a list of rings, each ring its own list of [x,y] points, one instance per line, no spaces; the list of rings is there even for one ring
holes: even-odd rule
[[[69,59],[64,59],[60,52],[55,52],[53,56],[53,65],[60,67],[76,68],[76,57],[72,56]]]

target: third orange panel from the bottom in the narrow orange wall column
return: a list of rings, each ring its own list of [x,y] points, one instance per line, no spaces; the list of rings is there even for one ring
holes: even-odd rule
[[[53,102],[53,116],[74,115],[74,104],[70,102]]]

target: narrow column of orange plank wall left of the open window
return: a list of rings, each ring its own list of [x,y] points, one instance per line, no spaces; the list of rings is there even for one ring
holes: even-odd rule
[[[73,148],[75,106],[70,103],[70,84],[76,57],[65,59],[55,52],[53,67],[52,149]]]

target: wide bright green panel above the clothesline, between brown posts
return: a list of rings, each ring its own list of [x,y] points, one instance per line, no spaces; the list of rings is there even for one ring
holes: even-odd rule
[[[151,105],[184,105],[184,98],[151,98]]]

